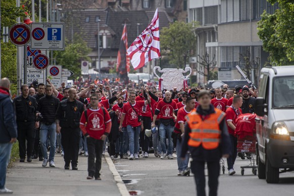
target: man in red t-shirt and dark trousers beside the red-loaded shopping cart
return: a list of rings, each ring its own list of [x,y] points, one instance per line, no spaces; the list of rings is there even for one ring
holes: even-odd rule
[[[242,104],[242,97],[236,95],[233,98],[233,104],[226,110],[226,119],[231,140],[231,153],[230,157],[227,158],[229,175],[234,175],[236,173],[234,171],[234,163],[237,157],[237,137],[235,136],[235,129],[236,119],[240,114],[242,114],[242,111],[240,109]]]

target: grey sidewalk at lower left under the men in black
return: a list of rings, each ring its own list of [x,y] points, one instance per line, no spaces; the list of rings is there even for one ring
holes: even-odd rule
[[[121,195],[106,158],[102,158],[101,181],[86,179],[87,157],[79,156],[78,161],[78,170],[65,170],[60,154],[55,156],[55,168],[42,167],[38,159],[16,162],[8,170],[6,187],[13,195]]]

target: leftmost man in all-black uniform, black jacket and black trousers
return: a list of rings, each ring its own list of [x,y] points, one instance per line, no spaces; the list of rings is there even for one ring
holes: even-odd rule
[[[22,94],[14,99],[18,130],[17,139],[19,142],[19,157],[20,162],[24,162],[27,155],[27,162],[31,162],[35,135],[34,128],[39,126],[39,123],[35,122],[37,101],[33,96],[29,95],[28,85],[24,84],[20,89]]]

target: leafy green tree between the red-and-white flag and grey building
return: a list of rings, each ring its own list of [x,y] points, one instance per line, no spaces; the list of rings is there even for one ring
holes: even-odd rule
[[[196,36],[193,33],[195,23],[174,22],[161,30],[162,54],[169,56],[169,63],[185,68],[189,57],[195,52]]]

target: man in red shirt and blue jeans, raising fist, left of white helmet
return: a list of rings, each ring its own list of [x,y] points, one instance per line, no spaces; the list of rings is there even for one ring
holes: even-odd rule
[[[145,90],[148,92],[148,90]],[[144,92],[145,93],[145,92]],[[122,130],[122,122],[127,118],[127,132],[129,137],[130,160],[139,159],[139,134],[141,131],[140,111],[144,105],[148,104],[146,101],[135,101],[136,93],[130,93],[130,102],[123,107],[123,113],[120,120],[119,129]],[[149,100],[150,102],[150,100]]]

